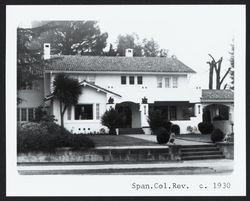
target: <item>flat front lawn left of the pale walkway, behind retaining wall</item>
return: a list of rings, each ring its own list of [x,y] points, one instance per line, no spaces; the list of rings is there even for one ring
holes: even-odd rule
[[[99,146],[155,146],[157,143],[124,135],[86,135]]]

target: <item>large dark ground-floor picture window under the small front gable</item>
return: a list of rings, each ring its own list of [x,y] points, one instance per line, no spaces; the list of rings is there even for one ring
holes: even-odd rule
[[[75,106],[75,120],[93,119],[93,105],[84,104]]]

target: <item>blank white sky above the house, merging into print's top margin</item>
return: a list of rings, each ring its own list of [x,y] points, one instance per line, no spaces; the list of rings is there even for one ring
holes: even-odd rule
[[[140,39],[152,37],[161,48],[168,49],[170,55],[176,55],[197,72],[194,84],[202,88],[208,87],[209,53],[215,60],[223,57],[222,76],[228,69],[230,44],[233,38],[237,43],[242,20],[239,13],[242,9],[229,5],[92,6],[84,9],[72,9],[74,12],[69,13],[66,20],[97,20],[101,31],[109,34],[107,42],[113,44],[119,34],[136,33]],[[76,15],[78,12],[84,14]],[[60,17],[65,20],[65,16]],[[47,19],[53,18],[52,15]],[[227,82],[230,82],[229,77]]]

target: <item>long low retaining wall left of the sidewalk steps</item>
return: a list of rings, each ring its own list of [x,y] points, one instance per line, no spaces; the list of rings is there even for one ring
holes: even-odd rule
[[[180,160],[179,146],[156,148],[95,148],[89,150],[57,149],[54,152],[19,153],[18,163],[48,162],[133,162]]]

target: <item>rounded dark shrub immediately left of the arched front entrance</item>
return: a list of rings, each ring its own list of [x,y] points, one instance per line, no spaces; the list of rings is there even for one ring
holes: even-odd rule
[[[111,108],[102,115],[101,122],[103,126],[109,128],[109,134],[116,135],[115,129],[122,124],[122,114]]]

